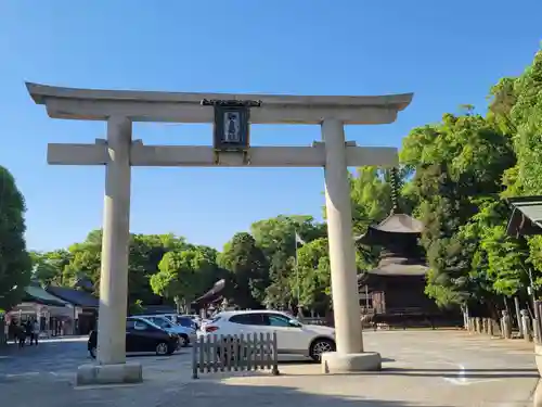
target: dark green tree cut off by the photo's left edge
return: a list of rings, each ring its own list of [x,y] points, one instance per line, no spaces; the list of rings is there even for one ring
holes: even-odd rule
[[[30,281],[33,264],[26,250],[25,209],[13,176],[0,166],[0,309],[17,304]]]

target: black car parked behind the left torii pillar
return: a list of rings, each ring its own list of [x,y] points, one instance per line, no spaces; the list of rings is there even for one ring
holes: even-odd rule
[[[179,336],[168,333],[155,325],[138,318],[126,320],[126,353],[155,352],[156,355],[171,355],[178,347]],[[98,332],[91,331],[88,349],[92,358],[96,357]]]

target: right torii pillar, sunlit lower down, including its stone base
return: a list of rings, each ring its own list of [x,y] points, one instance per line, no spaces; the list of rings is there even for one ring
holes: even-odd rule
[[[363,352],[358,268],[352,232],[345,130],[341,122],[324,118],[325,209],[332,274],[332,300],[337,352],[322,356],[324,373],[380,370],[378,353]]]

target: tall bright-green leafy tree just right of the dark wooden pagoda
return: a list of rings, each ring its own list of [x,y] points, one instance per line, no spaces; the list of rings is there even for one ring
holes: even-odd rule
[[[511,139],[480,115],[446,114],[411,131],[401,160],[415,169],[411,193],[426,226],[426,292],[441,306],[464,304],[476,281],[469,274],[477,249],[457,233],[480,211],[473,198],[498,198],[503,190],[503,174],[515,164]]]

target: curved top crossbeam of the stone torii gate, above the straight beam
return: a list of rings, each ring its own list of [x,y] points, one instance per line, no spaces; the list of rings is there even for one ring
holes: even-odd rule
[[[258,100],[261,107],[250,114],[253,124],[321,124],[334,117],[345,125],[393,123],[413,93],[375,97],[278,96],[185,93],[137,90],[94,90],[26,84],[38,104],[50,117],[106,120],[112,115],[133,122],[212,123],[211,109],[204,99]]]

